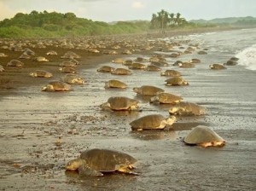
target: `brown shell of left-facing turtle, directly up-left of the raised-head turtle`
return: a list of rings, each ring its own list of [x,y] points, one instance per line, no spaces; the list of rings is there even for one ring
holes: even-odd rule
[[[136,106],[138,101],[125,96],[113,96],[108,98],[108,103],[112,110],[126,110]]]

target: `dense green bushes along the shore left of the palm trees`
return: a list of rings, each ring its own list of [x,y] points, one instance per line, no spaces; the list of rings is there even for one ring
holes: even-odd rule
[[[78,18],[73,13],[47,11],[15,14],[0,22],[0,38],[53,38],[89,35],[124,34],[147,31],[148,21],[106,22]]]

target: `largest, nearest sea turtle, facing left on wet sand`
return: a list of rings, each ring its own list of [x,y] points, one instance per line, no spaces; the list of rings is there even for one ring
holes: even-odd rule
[[[137,159],[131,155],[116,150],[93,148],[85,150],[78,159],[69,161],[67,171],[79,171],[80,176],[103,176],[104,173],[122,172],[138,175],[131,171],[135,169]]]

